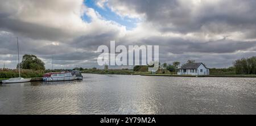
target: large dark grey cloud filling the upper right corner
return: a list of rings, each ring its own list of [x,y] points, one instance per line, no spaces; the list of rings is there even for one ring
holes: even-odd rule
[[[183,1],[109,0],[110,7],[121,14],[134,10],[144,14],[148,22],[161,31],[195,32],[207,28],[210,32],[247,31],[256,28],[256,1]],[[120,7],[120,10],[119,10]],[[214,25],[214,27],[211,27]],[[216,28],[216,26],[220,26]],[[255,36],[254,36],[255,38]]]

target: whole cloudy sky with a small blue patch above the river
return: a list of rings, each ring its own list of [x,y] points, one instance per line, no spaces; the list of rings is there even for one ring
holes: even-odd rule
[[[232,66],[256,56],[255,0],[0,0],[0,68],[35,54],[51,68],[102,68],[99,45],[159,45],[160,62]],[[21,56],[20,56],[21,57]]]

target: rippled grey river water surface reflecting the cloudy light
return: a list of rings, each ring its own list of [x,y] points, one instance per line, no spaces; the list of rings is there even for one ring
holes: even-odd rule
[[[256,114],[256,78],[84,74],[1,84],[0,114]]]

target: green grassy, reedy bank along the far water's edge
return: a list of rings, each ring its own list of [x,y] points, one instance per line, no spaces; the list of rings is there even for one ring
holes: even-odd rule
[[[64,70],[65,71],[65,70]],[[43,74],[48,71],[43,70],[20,70],[21,77],[32,78],[31,81],[41,81]],[[123,75],[150,75],[150,76],[170,76],[170,77],[196,77],[195,75],[177,75],[171,73],[156,73],[151,74],[150,72],[134,72],[129,69],[86,69],[82,73],[92,73],[92,74],[123,74]],[[0,69],[0,80],[19,77],[18,70],[10,69]],[[210,73],[210,75],[198,75],[198,77],[256,77],[256,74],[234,74],[234,73]]]

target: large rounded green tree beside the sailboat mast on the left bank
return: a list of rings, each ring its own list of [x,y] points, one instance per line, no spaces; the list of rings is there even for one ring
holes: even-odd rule
[[[44,62],[33,54],[24,54],[22,62],[20,62],[21,69],[32,69],[32,70],[45,70]],[[17,64],[17,68],[18,68]]]

